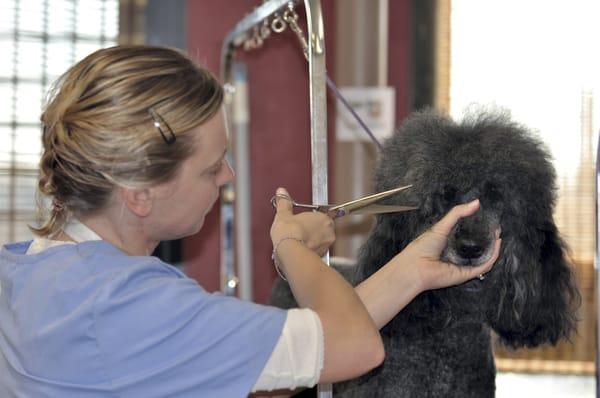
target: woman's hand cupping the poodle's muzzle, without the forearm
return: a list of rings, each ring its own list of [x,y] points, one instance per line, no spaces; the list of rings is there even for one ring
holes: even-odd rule
[[[479,266],[460,267],[440,260],[452,228],[460,218],[472,215],[477,209],[479,209],[479,200],[455,206],[442,220],[411,242],[392,261],[410,264],[418,270],[418,281],[422,290],[457,285],[485,274],[492,268],[500,253],[500,231],[496,232],[492,256]]]

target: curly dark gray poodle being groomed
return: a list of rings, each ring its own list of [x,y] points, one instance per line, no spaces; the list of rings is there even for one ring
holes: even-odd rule
[[[445,260],[465,267],[491,255],[500,227],[502,248],[483,280],[427,291],[382,330],[384,363],[365,376],[334,385],[335,397],[493,397],[491,330],[511,348],[556,344],[575,327],[580,296],[552,211],[555,173],[542,143],[498,112],[457,123],[422,111],[384,143],[375,189],[412,184],[385,204],[418,210],[377,216],[357,266],[346,275],[369,277],[450,208],[475,198],[481,209],[452,231]],[[281,281],[272,302],[290,307]]]

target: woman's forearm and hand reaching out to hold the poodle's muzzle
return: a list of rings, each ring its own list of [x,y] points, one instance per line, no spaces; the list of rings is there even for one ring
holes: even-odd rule
[[[385,326],[419,293],[466,282],[492,268],[500,252],[499,237],[491,258],[480,266],[458,267],[439,259],[454,225],[478,208],[479,201],[454,207],[429,231],[356,286],[357,294],[378,328]]]

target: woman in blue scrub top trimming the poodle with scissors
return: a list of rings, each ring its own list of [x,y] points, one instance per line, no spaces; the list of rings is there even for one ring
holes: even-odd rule
[[[474,202],[354,290],[320,259],[332,220],[279,199],[274,258],[306,308],[208,294],[150,253],[198,232],[233,178],[222,99],[159,47],[99,50],[59,79],[42,114],[50,214],[0,252],[0,396],[238,397],[351,378],[381,363],[378,328],[416,294],[491,268],[499,240],[470,271],[437,261]]]

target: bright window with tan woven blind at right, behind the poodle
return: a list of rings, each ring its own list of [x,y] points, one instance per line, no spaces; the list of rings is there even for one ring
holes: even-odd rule
[[[582,295],[571,341],[531,350],[497,347],[496,368],[591,375],[596,360],[594,158],[600,131],[600,3],[444,2],[451,4],[450,111],[460,116],[470,103],[499,105],[547,144],[558,177],[556,225],[571,248]],[[510,21],[509,29],[505,21]]]

